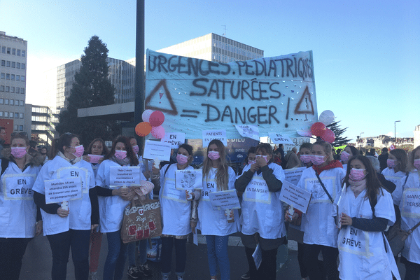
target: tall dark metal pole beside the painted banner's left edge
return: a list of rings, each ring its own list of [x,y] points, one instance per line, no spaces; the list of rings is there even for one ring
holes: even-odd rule
[[[137,0],[136,22],[136,99],[134,102],[134,126],[141,123],[141,114],[144,111],[144,0]],[[137,144],[143,150],[144,137],[136,134]]]

